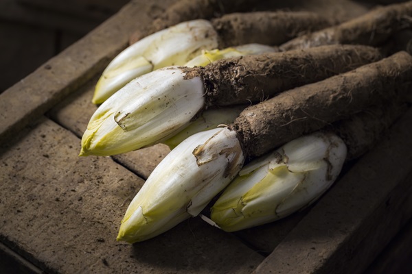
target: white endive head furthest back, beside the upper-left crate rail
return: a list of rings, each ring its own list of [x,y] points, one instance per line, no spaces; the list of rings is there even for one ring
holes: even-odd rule
[[[143,38],[119,53],[104,70],[92,99],[103,103],[132,79],[165,66],[181,66],[201,53],[216,49],[218,34],[209,21],[179,23]]]

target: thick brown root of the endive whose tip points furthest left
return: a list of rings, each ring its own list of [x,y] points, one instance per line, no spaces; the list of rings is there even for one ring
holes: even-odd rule
[[[218,60],[186,69],[186,78],[203,79],[206,106],[235,105],[259,102],[380,59],[372,47],[330,45]]]

